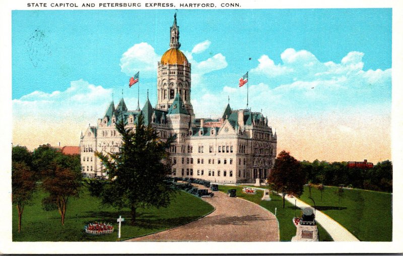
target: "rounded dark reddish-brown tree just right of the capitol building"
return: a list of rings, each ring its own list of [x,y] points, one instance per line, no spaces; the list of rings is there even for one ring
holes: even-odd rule
[[[300,196],[304,192],[306,174],[297,159],[289,152],[281,151],[276,158],[272,172],[268,178],[272,188],[283,193],[283,208],[285,207],[286,194]]]

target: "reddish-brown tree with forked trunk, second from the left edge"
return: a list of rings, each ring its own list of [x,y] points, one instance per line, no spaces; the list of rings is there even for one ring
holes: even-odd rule
[[[42,203],[45,210],[57,208],[61,217],[61,224],[64,225],[69,198],[79,195],[82,176],[73,168],[60,166],[55,162],[52,163],[51,169],[52,171],[47,173],[42,184],[49,196]]]

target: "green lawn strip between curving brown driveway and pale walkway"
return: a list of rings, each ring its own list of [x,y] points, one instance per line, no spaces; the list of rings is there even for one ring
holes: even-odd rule
[[[237,190],[237,197],[246,199],[255,204],[258,204],[265,209],[271,211],[273,214],[275,213],[275,209],[277,208],[277,219],[279,221],[280,226],[280,240],[281,241],[291,241],[291,238],[295,236],[297,228],[292,222],[294,218],[294,214],[296,213],[297,217],[301,216],[301,210],[297,209],[295,211],[294,205],[286,201],[285,208],[283,209],[283,198],[270,193],[271,201],[262,201],[261,198],[263,196],[263,191],[257,190],[256,195],[249,195],[242,192],[243,187],[233,187],[233,186],[219,186],[219,190],[226,193],[229,189]],[[333,241],[330,235],[318,224],[318,233],[319,233],[319,241]]]

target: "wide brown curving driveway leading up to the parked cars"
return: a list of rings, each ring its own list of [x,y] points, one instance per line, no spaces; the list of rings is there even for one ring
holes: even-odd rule
[[[126,241],[279,241],[276,216],[257,204],[222,192],[203,200],[216,210],[191,223]]]

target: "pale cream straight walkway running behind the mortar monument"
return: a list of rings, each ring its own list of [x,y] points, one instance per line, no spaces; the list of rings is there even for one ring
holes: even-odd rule
[[[286,196],[286,199],[293,205],[295,204],[294,198]],[[297,207],[306,208],[311,206],[297,198]],[[319,222],[324,229],[326,229],[327,233],[329,233],[329,235],[331,236],[331,238],[333,238],[334,241],[349,241],[349,242],[360,241],[345,227],[340,225],[339,222],[333,220],[332,218],[322,213],[321,211],[316,210],[315,220]]]

